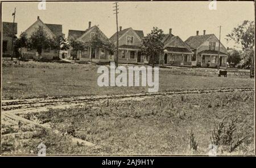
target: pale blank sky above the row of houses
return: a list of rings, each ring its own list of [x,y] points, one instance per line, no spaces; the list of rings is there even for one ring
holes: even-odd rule
[[[150,33],[158,27],[179,36],[182,40],[189,36],[214,33],[225,47],[233,47],[224,37],[243,20],[254,20],[253,2],[217,2],[216,10],[209,10],[210,2],[119,2],[118,26],[143,30]],[[13,22],[12,13],[16,7],[15,22],[18,23],[18,36],[33,24],[37,16],[44,23],[62,24],[63,33],[68,30],[86,30],[88,22],[97,25],[106,36],[116,32],[113,2],[46,2],[46,10],[38,9],[39,2],[3,2],[2,21]]]

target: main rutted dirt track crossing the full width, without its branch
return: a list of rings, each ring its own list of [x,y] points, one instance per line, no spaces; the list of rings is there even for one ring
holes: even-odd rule
[[[179,91],[164,91],[158,93],[139,93],[139,94],[123,94],[123,95],[93,95],[93,96],[72,96],[72,97],[48,97],[48,98],[33,98],[33,99],[14,99],[2,100],[2,114],[11,112],[14,114],[47,111],[48,108],[67,108],[86,104],[88,106],[100,106],[100,104],[108,99],[112,100],[142,100],[152,96],[161,95],[177,95],[177,94],[201,94],[213,92],[232,92],[232,91],[252,91],[254,87],[246,88],[222,88],[211,90],[179,90]]]

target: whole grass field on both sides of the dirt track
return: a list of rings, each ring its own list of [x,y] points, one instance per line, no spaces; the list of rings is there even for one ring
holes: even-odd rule
[[[2,99],[148,91],[147,87],[99,87],[96,64],[30,61],[19,65],[3,60],[2,66]],[[236,71],[224,78],[217,77],[216,69],[159,69],[159,91],[223,87],[254,87],[254,79]],[[19,115],[50,129],[2,115],[2,154],[37,154],[43,142],[47,154],[208,155],[210,138],[219,146],[217,154],[254,154],[254,91],[109,99]],[[213,130],[220,135],[213,136]],[[95,145],[74,144],[73,137]],[[192,141],[198,143],[197,149],[191,149]]]

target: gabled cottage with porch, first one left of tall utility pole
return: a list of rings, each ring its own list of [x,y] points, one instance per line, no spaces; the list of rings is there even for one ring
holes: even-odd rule
[[[92,47],[89,44],[92,42],[95,36],[100,36],[103,43],[110,43],[108,37],[98,28],[98,26],[91,27],[91,22],[85,31],[69,30],[68,40],[81,41],[83,44],[88,44],[83,51],[76,51],[75,49],[69,49],[68,57],[73,57],[76,60],[90,61],[90,62],[109,62],[113,61],[114,57],[110,53],[109,49],[102,47]]]

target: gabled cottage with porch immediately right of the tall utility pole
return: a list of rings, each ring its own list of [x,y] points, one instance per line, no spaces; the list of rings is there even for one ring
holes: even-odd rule
[[[119,27],[118,32],[118,62],[121,63],[147,63],[147,58],[142,56],[141,45],[144,33],[141,30]],[[110,41],[117,46],[117,33],[110,37]],[[114,53],[115,55],[115,53]]]

